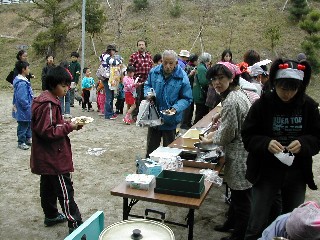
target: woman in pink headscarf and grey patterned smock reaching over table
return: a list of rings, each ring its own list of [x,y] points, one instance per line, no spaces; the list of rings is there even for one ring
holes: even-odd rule
[[[215,230],[224,232],[234,228],[234,231],[231,236],[223,237],[221,240],[243,240],[250,215],[252,185],[245,178],[248,153],[240,133],[251,102],[239,87],[240,74],[236,65],[218,62],[208,69],[206,75],[216,92],[220,94],[222,109],[219,127],[201,137],[201,142],[223,146],[224,180],[231,189],[228,218],[223,225],[216,226]]]

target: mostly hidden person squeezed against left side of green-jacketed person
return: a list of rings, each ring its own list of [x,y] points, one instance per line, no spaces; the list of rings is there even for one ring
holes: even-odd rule
[[[187,65],[184,69],[188,75],[191,90],[193,89],[194,76],[197,71],[198,58],[199,58],[199,56],[197,54],[191,54],[189,57],[189,62],[187,63]],[[182,122],[181,122],[180,128],[189,129],[192,127],[193,111],[194,111],[194,102],[192,101],[190,106],[187,107],[186,110],[184,110],[184,112],[183,112],[183,117],[182,117]]]

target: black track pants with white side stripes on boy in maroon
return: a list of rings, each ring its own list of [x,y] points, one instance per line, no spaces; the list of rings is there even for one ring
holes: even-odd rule
[[[73,196],[74,189],[70,173],[41,175],[40,197],[45,217],[55,218],[58,215],[57,199],[59,199],[62,211],[68,220],[68,227],[79,227],[82,224],[82,218]]]

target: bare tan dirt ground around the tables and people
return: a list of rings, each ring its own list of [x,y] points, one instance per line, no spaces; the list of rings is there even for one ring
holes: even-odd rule
[[[64,239],[67,224],[45,227],[40,206],[39,176],[30,172],[30,151],[17,148],[17,123],[11,117],[12,91],[1,91],[0,103],[0,239]],[[96,107],[96,105],[94,105]],[[71,109],[73,116],[84,115],[80,106]],[[122,199],[111,196],[110,190],[135,172],[136,156],[145,155],[146,130],[98,117],[97,112],[85,113],[95,120],[82,130],[70,134],[75,172],[75,200],[84,220],[95,211],[105,214],[105,226],[122,220]],[[87,154],[89,148],[106,150],[100,156]],[[314,164],[316,183],[320,186],[320,156]],[[214,187],[203,205],[195,211],[194,239],[218,240],[227,234],[213,230],[224,221],[227,204],[224,186]],[[319,191],[307,192],[307,200],[319,202]],[[183,221],[187,209],[139,202],[133,213],[143,214],[145,208],[166,212],[168,220]],[[176,240],[187,239],[187,229],[169,225]]]

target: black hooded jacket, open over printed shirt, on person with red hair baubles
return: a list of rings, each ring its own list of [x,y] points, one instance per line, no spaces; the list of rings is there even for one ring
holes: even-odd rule
[[[275,92],[263,94],[250,108],[242,127],[242,140],[249,152],[247,158],[246,178],[255,184],[261,177],[272,181],[281,181],[289,168],[300,169],[305,183],[310,189],[317,186],[313,180],[312,156],[320,150],[320,114],[318,103],[307,95],[301,101],[284,104]],[[293,164],[289,167],[280,162],[268,151],[269,142],[274,139],[272,128],[273,117],[279,110],[289,116],[292,111],[301,111],[302,129],[296,139],[301,144],[301,151],[295,154]],[[294,115],[293,115],[294,116]],[[291,120],[291,121],[292,121]]]

